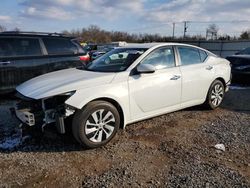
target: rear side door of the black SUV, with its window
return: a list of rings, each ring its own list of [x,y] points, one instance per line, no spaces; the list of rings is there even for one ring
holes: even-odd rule
[[[0,93],[9,92],[20,83],[47,72],[36,37],[0,37]]]

